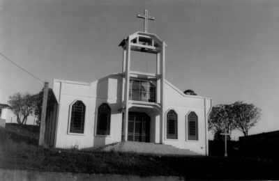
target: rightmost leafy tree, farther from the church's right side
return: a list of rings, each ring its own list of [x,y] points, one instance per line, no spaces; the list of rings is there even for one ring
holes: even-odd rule
[[[236,129],[243,132],[244,136],[248,136],[249,129],[256,125],[261,115],[261,110],[255,107],[254,104],[247,104],[241,101],[232,104],[232,112]]]

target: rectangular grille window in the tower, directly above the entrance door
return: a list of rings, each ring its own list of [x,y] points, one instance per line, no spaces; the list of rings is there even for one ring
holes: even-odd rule
[[[156,82],[143,79],[131,79],[129,99],[144,102],[156,102]]]

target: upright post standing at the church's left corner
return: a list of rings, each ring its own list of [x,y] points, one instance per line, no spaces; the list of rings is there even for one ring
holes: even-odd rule
[[[45,81],[43,88],[43,105],[40,115],[40,139],[39,145],[45,146],[45,117],[47,114],[47,96],[48,96],[48,82]]]

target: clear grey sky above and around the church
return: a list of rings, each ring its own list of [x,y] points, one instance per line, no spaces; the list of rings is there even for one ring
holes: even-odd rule
[[[142,31],[144,9],[156,17],[149,32],[167,43],[168,81],[213,105],[255,104],[262,116],[250,134],[279,129],[278,0],[0,0],[0,52],[44,81],[91,82],[121,72],[119,42]],[[133,68],[151,71],[149,59]],[[42,87],[0,58],[1,103]]]

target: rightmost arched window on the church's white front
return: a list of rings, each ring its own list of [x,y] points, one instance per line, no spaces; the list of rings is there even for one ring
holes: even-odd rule
[[[188,140],[198,140],[197,114],[190,112],[188,115]]]

